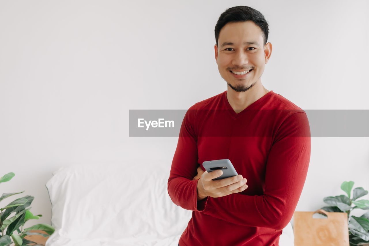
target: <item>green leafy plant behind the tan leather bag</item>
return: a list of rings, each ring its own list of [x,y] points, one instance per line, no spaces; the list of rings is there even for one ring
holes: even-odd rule
[[[368,191],[362,187],[357,187],[352,191],[352,198],[350,199],[352,187],[354,187],[353,181],[344,181],[341,184],[341,189],[346,192],[347,196],[325,197],[323,201],[330,206],[321,209],[327,212],[347,213],[350,246],[369,246],[369,212],[360,217],[350,216],[350,212],[354,209],[369,209],[369,200],[356,200],[368,194]],[[352,204],[355,206],[352,207]]]

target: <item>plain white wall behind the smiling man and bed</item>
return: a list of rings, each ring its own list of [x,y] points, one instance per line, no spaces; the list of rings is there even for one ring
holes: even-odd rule
[[[365,0],[0,1],[0,176],[15,173],[0,188],[35,197],[43,217],[28,225],[50,223],[45,183],[59,167],[171,160],[177,137],[129,137],[128,110],[188,109],[227,90],[214,27],[237,5],[269,22],[267,89],[303,109],[369,109]],[[368,137],[313,137],[296,210],[324,206],[342,181],[369,189],[368,174]]]

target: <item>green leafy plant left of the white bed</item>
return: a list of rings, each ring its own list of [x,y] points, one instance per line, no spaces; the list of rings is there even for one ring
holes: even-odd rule
[[[0,178],[0,183],[7,182],[11,180],[11,178],[13,178],[14,176],[15,174],[13,172],[9,172],[8,174],[5,174],[3,177]],[[7,197],[23,192],[24,191],[15,193],[3,193],[3,195],[0,197],[0,202]],[[28,228],[23,228],[23,225],[26,221],[30,219],[39,219],[42,216],[41,214],[33,215],[30,211],[31,207],[27,208],[31,205],[33,199],[34,197],[27,195],[25,197],[14,200],[3,208],[0,208],[0,246],[11,245],[13,243],[11,239],[13,239],[15,246],[30,245],[30,243],[35,242],[25,239],[25,236],[41,235],[47,237],[54,233],[55,229],[47,224],[37,224]],[[15,214],[10,217],[10,215],[14,212]],[[43,230],[47,234],[30,232],[30,230]],[[15,234],[15,231],[17,231],[18,234]],[[36,245],[38,244],[36,243]]]

